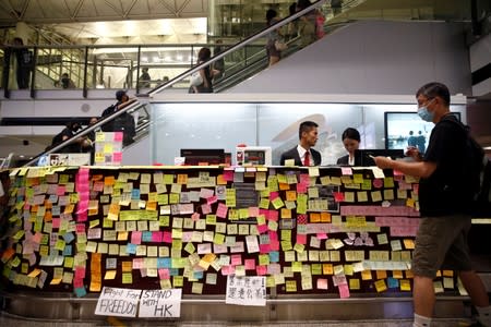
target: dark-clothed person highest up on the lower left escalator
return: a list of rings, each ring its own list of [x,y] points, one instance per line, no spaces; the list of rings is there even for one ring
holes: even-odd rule
[[[124,108],[130,100],[130,97],[127,95],[125,90],[118,90],[116,93],[117,102],[115,105],[109,106],[106,110],[103,111],[100,118],[106,118],[118,110]],[[110,120],[101,126],[103,132],[122,132],[123,133],[123,146],[128,146],[134,142],[133,137],[136,134],[135,132],[135,123],[132,114],[128,112],[123,112],[117,118]]]

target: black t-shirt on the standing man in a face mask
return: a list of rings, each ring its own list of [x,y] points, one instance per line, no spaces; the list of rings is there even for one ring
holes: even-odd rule
[[[430,135],[424,161],[436,164],[435,171],[419,184],[419,204],[422,216],[467,214],[471,202],[470,162],[467,132],[446,114]]]

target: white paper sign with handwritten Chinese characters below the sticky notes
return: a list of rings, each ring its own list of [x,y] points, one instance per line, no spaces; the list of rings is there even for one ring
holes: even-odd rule
[[[225,303],[237,305],[266,305],[266,278],[259,276],[227,278],[227,293]]]

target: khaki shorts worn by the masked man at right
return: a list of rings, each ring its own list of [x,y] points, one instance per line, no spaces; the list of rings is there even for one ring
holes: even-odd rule
[[[452,215],[420,219],[412,272],[416,276],[435,278],[436,270],[471,270],[467,234],[470,216]]]

